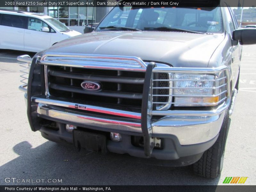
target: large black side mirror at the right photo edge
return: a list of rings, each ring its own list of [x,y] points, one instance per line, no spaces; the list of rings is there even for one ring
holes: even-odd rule
[[[256,44],[256,28],[239,28],[233,31],[232,39],[241,45]]]

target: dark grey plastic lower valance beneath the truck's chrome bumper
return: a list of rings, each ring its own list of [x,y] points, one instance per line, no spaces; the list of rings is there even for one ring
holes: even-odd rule
[[[45,117],[54,121],[54,118]],[[45,127],[41,127],[39,130],[42,136],[54,142],[62,144],[73,144],[72,133],[66,131],[65,124],[68,121],[57,120],[59,130],[51,130]],[[78,124],[76,124],[78,125]],[[87,127],[88,128],[88,127]],[[153,149],[150,159],[143,161],[147,158],[144,153],[144,149],[141,147],[136,147],[132,145],[131,135],[142,135],[136,133],[122,134],[122,140],[120,142],[113,142],[107,140],[107,149],[111,153],[116,154],[128,154],[132,157],[138,157],[138,161],[143,163],[161,164],[167,166],[186,166],[193,164],[198,161],[205,150],[210,148],[218,138],[215,136],[212,140],[204,143],[195,145],[180,145],[179,140],[173,135],[159,135],[163,141],[163,149]],[[164,138],[165,137],[165,138]],[[171,160],[171,161],[170,161]]]

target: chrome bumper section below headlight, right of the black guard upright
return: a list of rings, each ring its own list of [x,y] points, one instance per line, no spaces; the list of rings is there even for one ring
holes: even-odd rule
[[[175,135],[181,145],[209,141],[219,134],[225,111],[215,116],[166,116],[151,124],[153,134]]]

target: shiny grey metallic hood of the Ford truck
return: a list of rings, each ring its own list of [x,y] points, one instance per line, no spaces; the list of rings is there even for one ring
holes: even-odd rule
[[[44,52],[135,56],[173,67],[207,67],[225,34],[161,31],[93,32],[63,40]]]

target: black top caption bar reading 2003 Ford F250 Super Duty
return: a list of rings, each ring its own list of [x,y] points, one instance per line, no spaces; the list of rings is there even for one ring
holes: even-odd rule
[[[28,6],[28,7],[253,7],[255,0],[1,0],[0,7]]]

